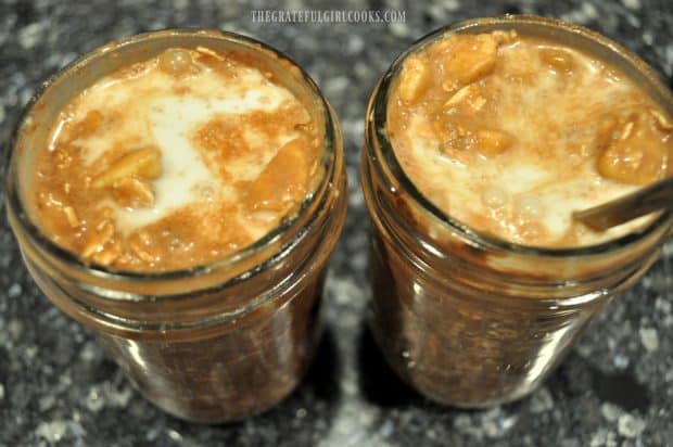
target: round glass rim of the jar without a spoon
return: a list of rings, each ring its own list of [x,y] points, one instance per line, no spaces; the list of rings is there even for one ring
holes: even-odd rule
[[[39,226],[34,222],[33,219],[30,219],[28,214],[25,212],[23,201],[21,200],[18,174],[15,166],[17,163],[16,148],[18,146],[21,140],[22,129],[27,124],[28,118],[31,116],[31,112],[34,111],[36,104],[38,104],[42,95],[52,86],[54,86],[59,80],[72,76],[78,71],[85,68],[91,61],[94,61],[102,56],[107,56],[109,53],[127,48],[129,46],[142,46],[148,41],[179,38],[181,36],[203,38],[204,44],[207,44],[207,40],[211,39],[217,41],[225,40],[232,42],[236,46],[240,46],[242,49],[246,49],[249,51],[256,51],[259,54],[268,53],[271,58],[279,61],[279,63],[287,65],[291,71],[299,74],[297,78],[301,84],[306,87],[310,95],[317,100],[318,107],[316,108],[321,115],[320,117],[323,129],[320,130],[323,133],[323,141],[320,145],[320,155],[323,161],[322,163],[325,164],[325,169],[321,175],[322,178],[319,182],[317,182],[315,189],[304,196],[296,212],[294,212],[290,217],[282,219],[267,234],[254,241],[250,245],[246,245],[245,247],[236,251],[229,255],[226,255],[221,258],[218,258],[214,261],[167,271],[137,271],[114,269],[96,263],[84,263],[76,253],[60,246],[51,239],[49,239],[40,230]],[[123,280],[131,281],[134,283],[148,283],[153,281],[173,282],[187,278],[194,279],[211,274],[214,271],[225,270],[228,267],[244,261],[245,259],[250,259],[254,255],[262,252],[264,248],[277,243],[283,235],[285,235],[289,229],[295,227],[297,224],[301,224],[302,220],[312,220],[315,216],[307,216],[307,209],[319,205],[319,203],[323,199],[322,196],[325,195],[326,190],[330,187],[332,182],[332,177],[334,176],[334,173],[339,170],[339,139],[340,131],[338,128],[338,124],[335,123],[335,116],[325,95],[320,91],[319,87],[301,67],[300,64],[294,62],[282,51],[277,50],[271,46],[252,37],[219,29],[170,28],[148,31],[98,47],[79,56],[75,61],[68,63],[65,67],[56,72],[54,75],[50,76],[47,81],[41,84],[40,88],[35,92],[28,104],[24,107],[24,112],[20,117],[18,124],[10,140],[10,151],[8,151],[4,166],[7,173],[5,203],[8,205],[8,213],[11,215],[10,221],[12,220],[12,218],[14,218],[16,220],[16,224],[20,225],[22,230],[26,232],[28,238],[30,238],[31,242],[35,243],[40,250],[43,250],[48,255],[59,259],[60,261],[64,261],[66,265],[68,265],[68,267],[74,267],[78,272],[90,274],[106,281]],[[310,222],[308,222],[308,225],[310,225]],[[254,270],[256,272],[266,270],[278,260],[278,256],[276,255],[287,252],[287,248],[288,246],[283,246],[280,248],[279,253],[274,253],[262,263],[256,264]],[[233,278],[229,279],[226,284],[231,281],[241,279],[241,276],[234,276]],[[219,284],[219,286],[226,284]]]

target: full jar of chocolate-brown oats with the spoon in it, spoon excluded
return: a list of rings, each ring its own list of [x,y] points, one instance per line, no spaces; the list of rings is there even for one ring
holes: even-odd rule
[[[673,98],[635,55],[560,21],[461,22],[401,55],[370,99],[370,328],[420,393],[486,407],[533,391],[657,258],[658,213],[572,213],[673,173]]]

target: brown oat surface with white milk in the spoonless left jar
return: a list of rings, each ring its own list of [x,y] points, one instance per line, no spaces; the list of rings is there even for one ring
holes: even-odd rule
[[[250,55],[174,48],[63,108],[37,158],[37,218],[86,263],[204,265],[296,209],[319,148],[304,104]]]

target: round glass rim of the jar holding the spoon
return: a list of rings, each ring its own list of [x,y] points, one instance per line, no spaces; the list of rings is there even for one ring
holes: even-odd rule
[[[635,244],[636,242],[655,233],[662,227],[670,227],[673,222],[673,212],[663,210],[660,212],[659,216],[653,218],[643,229],[637,231],[630,231],[626,234],[597,244],[570,247],[544,247],[519,244],[503,238],[478,231],[473,228],[470,228],[468,225],[462,224],[457,219],[454,219],[447,213],[443,212],[442,209],[440,209],[440,207],[434,205],[428,197],[426,197],[404,171],[401,163],[395,155],[392,143],[388,137],[386,124],[390,89],[393,81],[396,79],[396,76],[399,74],[402,65],[406,58],[409,56],[411,53],[430,44],[431,42],[447,35],[465,31],[470,33],[474,29],[480,28],[487,28],[490,30],[519,29],[517,28],[517,26],[520,25],[550,28],[560,33],[580,36],[587,41],[598,43],[600,47],[609,50],[611,54],[621,58],[630,66],[633,66],[638,74],[643,75],[647,79],[647,81],[650,84],[650,87],[655,88],[658,94],[660,94],[664,99],[664,101],[670,104],[670,107],[673,108],[673,94],[662,84],[657,73],[655,73],[647,63],[645,63],[636,54],[614,42],[613,40],[584,26],[571,24],[557,18],[517,14],[506,14],[494,17],[478,17],[460,21],[430,31],[429,34],[422,36],[417,41],[415,41],[399,55],[397,55],[397,58],[393,61],[388,71],[380,78],[369,100],[365,128],[365,136],[367,141],[366,148],[371,151],[371,155],[379,159],[379,163],[374,163],[373,165],[379,170],[379,173],[382,174],[382,177],[385,178],[385,182],[388,183],[386,187],[391,188],[391,190],[394,190],[397,187],[392,181],[396,182],[399,188],[402,188],[405,192],[408,193],[411,202],[415,205],[419,206],[422,210],[429,213],[442,226],[448,228],[452,231],[455,231],[470,243],[473,243],[480,247],[486,247],[490,250],[496,250],[519,255],[541,256],[549,258],[605,255],[607,253],[617,252],[632,244]],[[385,166],[383,167],[382,164],[385,164]]]

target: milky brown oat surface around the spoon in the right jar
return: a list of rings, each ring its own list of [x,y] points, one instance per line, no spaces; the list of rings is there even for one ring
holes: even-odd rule
[[[515,31],[454,35],[409,55],[388,131],[416,187],[482,232],[536,246],[598,233],[571,213],[673,171],[673,122],[617,68]]]

